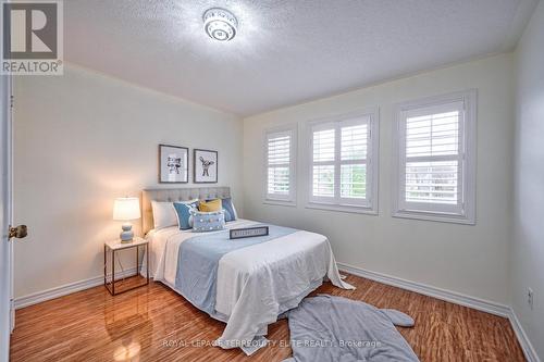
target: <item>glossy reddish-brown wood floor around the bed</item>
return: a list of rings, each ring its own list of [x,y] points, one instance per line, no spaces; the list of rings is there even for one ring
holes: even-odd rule
[[[421,361],[524,361],[506,319],[348,276],[357,290],[323,285],[318,292],[394,308],[416,320],[399,328]],[[290,355],[286,321],[269,329],[271,346],[251,358],[210,347],[224,324],[160,283],[111,297],[103,287],[16,312],[11,360],[282,361]]]

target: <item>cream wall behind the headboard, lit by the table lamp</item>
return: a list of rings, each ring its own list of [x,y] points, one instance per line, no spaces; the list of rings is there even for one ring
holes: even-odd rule
[[[242,208],[234,115],[71,65],[17,77],[14,115],[14,221],[29,227],[15,242],[15,297],[102,275],[103,241],[121,228],[113,200],[158,187],[159,143],[218,150],[217,185]]]

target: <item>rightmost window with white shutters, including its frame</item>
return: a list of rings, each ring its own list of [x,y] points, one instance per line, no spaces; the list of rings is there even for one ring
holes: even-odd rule
[[[394,216],[474,223],[475,91],[399,105]]]

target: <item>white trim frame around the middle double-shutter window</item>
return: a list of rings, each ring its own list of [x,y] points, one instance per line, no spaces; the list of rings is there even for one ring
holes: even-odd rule
[[[367,149],[367,179],[370,179],[370,188],[367,188],[370,194],[368,194],[369,202],[367,204],[351,204],[349,202],[337,202],[338,196],[334,197],[334,202],[330,202],[325,199],[323,201],[316,200],[312,191],[312,166],[313,166],[313,148],[312,128],[319,126],[320,124],[326,125],[330,123],[339,123],[343,121],[349,121],[355,117],[369,116],[369,132],[370,132],[370,147]],[[337,133],[336,133],[337,134]],[[339,211],[349,213],[360,213],[378,215],[379,213],[379,176],[380,176],[380,109],[378,107],[357,110],[347,114],[333,115],[329,117],[311,120],[306,122],[305,129],[305,141],[306,141],[306,177],[305,183],[308,188],[306,192],[305,207],[307,209],[319,209],[327,211]],[[336,140],[338,140],[339,135],[336,135]],[[337,154],[336,154],[337,157]],[[334,164],[337,162],[335,161]],[[347,162],[349,163],[349,162]],[[342,164],[342,163],[338,163]],[[339,173],[335,172],[336,182],[339,180]],[[346,200],[345,198],[344,200]],[[342,200],[342,199],[341,199]]]

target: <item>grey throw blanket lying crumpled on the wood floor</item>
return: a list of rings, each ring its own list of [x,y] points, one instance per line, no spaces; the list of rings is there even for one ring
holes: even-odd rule
[[[413,326],[396,310],[319,295],[288,312],[293,358],[284,362],[419,361],[395,328]]]

